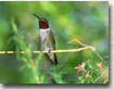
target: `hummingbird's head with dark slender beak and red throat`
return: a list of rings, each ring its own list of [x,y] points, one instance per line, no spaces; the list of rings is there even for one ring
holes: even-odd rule
[[[48,21],[47,18],[45,17],[39,17],[38,15],[34,14],[34,16],[36,16],[39,21],[39,28],[41,29],[47,29],[49,28],[49,25],[48,25]]]

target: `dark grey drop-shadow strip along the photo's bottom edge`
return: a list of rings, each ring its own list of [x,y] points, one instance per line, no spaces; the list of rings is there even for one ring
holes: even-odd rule
[[[107,85],[2,85],[2,89],[7,88],[109,88]]]

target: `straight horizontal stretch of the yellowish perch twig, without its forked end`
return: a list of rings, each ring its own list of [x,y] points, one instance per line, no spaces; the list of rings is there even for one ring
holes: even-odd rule
[[[79,52],[83,50],[89,49],[89,47],[78,48],[78,49],[71,49],[71,50],[52,50],[50,53],[56,53],[56,52]],[[0,51],[0,54],[14,54],[16,51]],[[24,54],[24,51],[20,52],[21,54]],[[49,51],[33,51],[33,53],[49,53]]]

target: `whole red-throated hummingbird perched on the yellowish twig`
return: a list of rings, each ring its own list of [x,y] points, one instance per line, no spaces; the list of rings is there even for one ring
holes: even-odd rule
[[[49,51],[49,53],[45,53],[46,59],[48,59],[52,64],[58,64],[56,54],[50,53],[51,50],[55,50],[55,40],[53,33],[49,28],[49,23],[47,18],[39,17],[34,14],[39,21],[39,42],[41,50]]]

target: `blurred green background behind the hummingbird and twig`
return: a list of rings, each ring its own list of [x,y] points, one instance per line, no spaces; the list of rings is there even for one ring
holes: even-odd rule
[[[109,66],[109,3],[106,1],[16,1],[0,2],[0,51],[15,50],[12,20],[33,50],[38,50],[38,20],[33,13],[49,21],[54,34],[56,49],[76,49],[78,43],[67,42],[75,38],[94,46]],[[58,53],[62,79],[67,84],[77,80],[74,69],[79,63],[92,59],[100,62],[91,51]],[[15,54],[0,54],[0,82],[26,84],[30,74],[21,71],[23,62]]]

